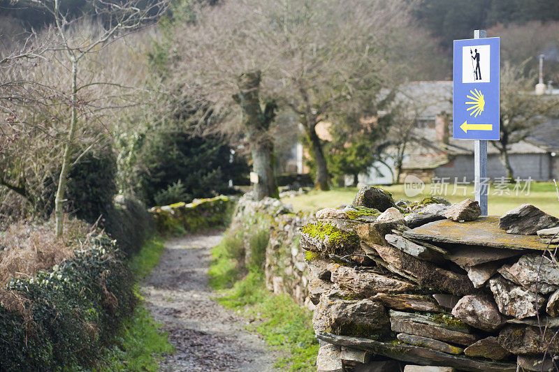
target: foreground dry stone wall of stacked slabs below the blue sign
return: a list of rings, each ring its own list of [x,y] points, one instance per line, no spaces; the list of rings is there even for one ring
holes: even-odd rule
[[[318,370],[556,371],[559,220],[480,215],[365,186],[300,228]]]

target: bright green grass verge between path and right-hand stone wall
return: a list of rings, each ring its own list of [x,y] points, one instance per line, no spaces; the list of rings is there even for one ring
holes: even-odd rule
[[[240,251],[240,246],[242,237],[227,233],[222,244],[212,250],[210,285],[219,290],[217,302],[255,319],[248,329],[261,334],[268,345],[283,355],[276,364],[279,369],[316,371],[319,345],[314,338],[312,315],[288,295],[268,292],[261,269],[251,267],[240,279],[246,271],[239,269],[232,254]]]

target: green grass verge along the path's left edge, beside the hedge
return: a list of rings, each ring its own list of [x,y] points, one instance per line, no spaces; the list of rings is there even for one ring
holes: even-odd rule
[[[161,237],[154,237],[145,242],[140,252],[131,258],[129,267],[139,281],[159,262],[159,257],[165,249]],[[139,303],[133,314],[124,322],[115,343],[109,348],[99,368],[94,371],[146,371],[156,372],[157,362],[164,354],[175,351],[168,341],[168,334],[161,332],[159,323],[145,308],[142,297],[135,288]]]

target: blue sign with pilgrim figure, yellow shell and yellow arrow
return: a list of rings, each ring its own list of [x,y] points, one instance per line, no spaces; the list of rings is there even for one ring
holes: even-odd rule
[[[453,138],[499,140],[499,38],[454,40]]]

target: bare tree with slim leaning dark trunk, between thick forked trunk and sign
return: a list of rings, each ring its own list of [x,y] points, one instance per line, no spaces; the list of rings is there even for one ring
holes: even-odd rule
[[[266,2],[266,1],[264,1]],[[278,95],[300,117],[316,165],[315,187],[328,189],[328,165],[317,124],[363,112],[393,87],[402,40],[412,32],[409,5],[386,0],[272,1],[269,43],[281,52]],[[265,14],[266,14],[265,13]]]

